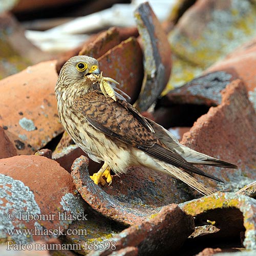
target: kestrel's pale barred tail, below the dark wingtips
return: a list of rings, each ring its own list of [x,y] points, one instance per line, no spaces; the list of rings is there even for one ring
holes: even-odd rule
[[[173,177],[180,179],[190,187],[196,189],[198,192],[200,192],[204,196],[208,196],[214,193],[213,190],[211,190],[210,188],[207,188],[204,184],[197,181],[193,176],[189,175],[184,170],[176,166],[167,164],[161,160],[156,160],[156,161],[168,172],[169,175],[172,175]]]

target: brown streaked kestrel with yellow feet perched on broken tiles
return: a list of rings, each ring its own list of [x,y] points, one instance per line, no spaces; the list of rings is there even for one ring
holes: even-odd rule
[[[92,160],[104,161],[93,177],[95,183],[103,174],[111,182],[110,168],[121,174],[129,166],[143,165],[209,195],[212,190],[189,173],[221,180],[203,172],[196,164],[237,168],[180,144],[161,125],[143,117],[129,102],[118,97],[119,94],[116,97],[102,92],[100,82],[92,79],[92,75],[99,74],[96,59],[74,56],[60,70],[55,87],[64,129]]]

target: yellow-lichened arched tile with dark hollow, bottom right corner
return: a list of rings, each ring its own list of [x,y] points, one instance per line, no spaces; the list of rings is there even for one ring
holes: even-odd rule
[[[195,217],[195,223],[212,223],[219,228],[211,238],[227,239],[240,237],[245,228],[243,245],[255,250],[256,202],[254,199],[234,193],[215,193],[184,204],[180,204],[186,214]],[[207,234],[205,234],[207,236]]]

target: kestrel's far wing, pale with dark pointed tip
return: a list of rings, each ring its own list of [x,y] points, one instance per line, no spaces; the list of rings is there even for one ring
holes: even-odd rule
[[[168,148],[172,148],[176,153],[181,155],[187,162],[191,164],[204,164],[224,168],[237,168],[236,165],[219,160],[214,157],[207,156],[203,153],[197,152],[192,148],[180,144],[179,140],[164,127],[147,119],[155,131],[155,136]]]

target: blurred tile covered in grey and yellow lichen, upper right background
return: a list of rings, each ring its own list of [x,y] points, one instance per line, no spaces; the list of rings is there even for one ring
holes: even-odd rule
[[[197,13],[199,16],[201,14]],[[232,0],[230,6],[224,9],[218,8],[216,4],[214,11],[204,15],[205,20],[200,23],[205,27],[202,31],[197,30],[197,33],[191,33],[194,29],[191,17],[183,15],[178,26],[168,36],[173,56],[177,56],[173,61],[168,89],[179,87],[200,75],[212,63],[253,38],[256,34],[255,15],[256,6],[248,0]],[[191,24],[186,24],[188,22]],[[186,31],[186,28],[190,30]]]

